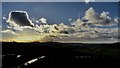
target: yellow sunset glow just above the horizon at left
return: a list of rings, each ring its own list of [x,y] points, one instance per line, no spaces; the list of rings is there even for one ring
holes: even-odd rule
[[[24,35],[17,35],[12,38],[6,38],[3,39],[3,42],[50,42],[49,36],[57,36],[58,34],[48,34],[48,33],[42,33],[38,35],[29,35],[29,34],[24,34]]]

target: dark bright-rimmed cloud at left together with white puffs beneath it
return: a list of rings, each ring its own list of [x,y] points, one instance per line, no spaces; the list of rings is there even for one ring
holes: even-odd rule
[[[8,29],[23,31],[24,29],[33,29],[34,24],[29,19],[29,15],[25,11],[11,11],[9,13],[7,26]]]

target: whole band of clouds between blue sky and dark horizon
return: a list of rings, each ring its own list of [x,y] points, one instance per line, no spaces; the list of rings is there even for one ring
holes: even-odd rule
[[[82,19],[73,21],[71,25],[49,24],[46,18],[36,20],[35,23],[29,19],[29,15],[25,11],[11,11],[7,22],[9,26],[7,30],[1,31],[3,39],[10,36],[12,41],[81,41],[92,39],[118,38],[118,28],[98,28],[100,26],[113,26],[118,24],[118,18],[111,18],[109,12],[96,12],[92,7],[86,10]],[[26,39],[25,39],[26,38]],[[72,40],[73,39],[73,40]],[[113,40],[114,40],[113,39]],[[7,39],[8,40],[8,39]]]

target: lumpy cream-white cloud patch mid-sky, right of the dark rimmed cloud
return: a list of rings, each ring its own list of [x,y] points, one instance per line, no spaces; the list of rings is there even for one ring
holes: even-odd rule
[[[68,28],[69,26],[63,23],[52,24],[52,25],[41,24],[41,25],[36,25],[34,30],[39,33],[64,33],[67,31]]]

